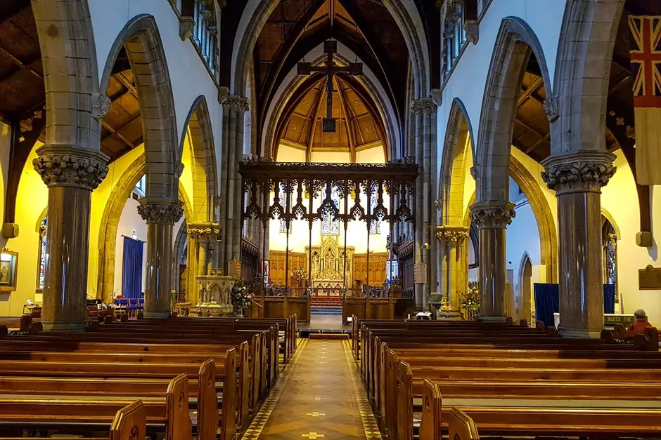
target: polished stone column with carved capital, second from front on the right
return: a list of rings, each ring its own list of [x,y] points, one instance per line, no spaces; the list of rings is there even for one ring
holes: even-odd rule
[[[470,206],[470,220],[480,230],[480,319],[505,321],[507,257],[505,228],[516,213],[514,204],[494,202]]]

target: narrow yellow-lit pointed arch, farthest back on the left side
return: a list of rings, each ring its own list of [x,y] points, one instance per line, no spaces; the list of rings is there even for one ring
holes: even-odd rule
[[[191,175],[193,176],[193,218],[191,222],[214,220],[214,201],[217,192],[216,152],[212,121],[207,100],[203,95],[193,102],[186,116],[186,130],[181,135],[179,156],[186,138],[191,144]]]

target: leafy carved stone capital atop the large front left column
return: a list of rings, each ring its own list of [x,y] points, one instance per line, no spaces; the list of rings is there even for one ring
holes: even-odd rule
[[[79,187],[96,189],[108,174],[110,158],[102,152],[75,147],[50,147],[37,149],[39,157],[32,166],[41,175],[47,187]]]

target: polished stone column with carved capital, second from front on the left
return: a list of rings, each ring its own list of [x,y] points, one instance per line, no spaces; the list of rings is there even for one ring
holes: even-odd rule
[[[172,229],[184,210],[181,201],[143,197],[138,213],[147,222],[147,258],[144,316],[172,315]],[[191,272],[188,272],[189,274]]]

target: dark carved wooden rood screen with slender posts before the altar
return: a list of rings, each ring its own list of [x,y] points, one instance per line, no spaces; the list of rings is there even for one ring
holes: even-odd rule
[[[239,173],[245,193],[242,221],[261,220],[264,229],[262,261],[266,258],[264,249],[267,225],[270,220],[276,218],[284,220],[287,232],[290,231],[293,220],[307,220],[310,249],[312,249],[312,229],[315,221],[321,222],[330,215],[333,222],[342,222],[343,268],[347,267],[349,222],[365,223],[367,249],[369,249],[372,221],[389,223],[392,243],[394,224],[413,223],[415,218],[413,200],[418,166],[412,161],[404,160],[388,164],[309,164],[260,159],[241,162]],[[332,194],[336,194],[338,199],[343,201],[342,208],[338,208],[335,204]],[[376,196],[376,203],[373,203],[373,195]],[[313,201],[319,196],[323,199],[314,209]],[[390,209],[385,206],[385,201],[390,201],[388,204]],[[286,249],[289,249],[289,233],[286,240]],[[390,252],[392,253],[392,249]],[[312,252],[308,253],[308,258],[307,283],[308,286],[312,286]],[[392,255],[390,259],[392,260]],[[369,265],[369,251],[367,264]],[[344,272],[342,286],[347,288],[347,270],[342,272]],[[289,278],[289,252],[286,252],[285,292],[290,291]],[[369,288],[369,271],[366,286]]]

